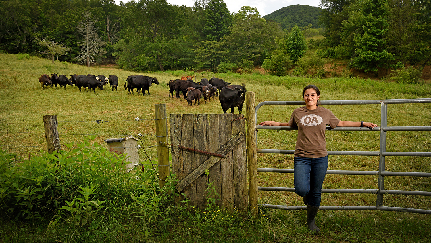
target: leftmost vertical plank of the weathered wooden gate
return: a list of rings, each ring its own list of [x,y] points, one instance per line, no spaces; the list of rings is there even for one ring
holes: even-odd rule
[[[169,115],[169,126],[171,135],[171,155],[172,155],[172,173],[176,175],[178,180],[184,179],[184,165],[183,165],[183,154],[178,146],[182,146],[181,137],[181,114],[170,114]],[[180,195],[175,198],[175,203],[178,205],[179,202],[184,200],[184,196]]]

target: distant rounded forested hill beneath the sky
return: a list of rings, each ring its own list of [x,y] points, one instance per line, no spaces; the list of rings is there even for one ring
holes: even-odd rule
[[[290,30],[295,25],[300,28],[308,25],[312,25],[312,28],[318,28],[322,27],[318,24],[321,11],[322,9],[318,7],[297,4],[278,9],[262,18],[281,23],[283,29]]]

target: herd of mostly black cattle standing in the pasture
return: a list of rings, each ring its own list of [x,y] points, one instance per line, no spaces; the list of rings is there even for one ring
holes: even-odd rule
[[[169,97],[174,98],[174,91],[176,98],[180,98],[180,92],[183,94],[184,99],[187,100],[187,104],[193,106],[200,104],[200,98],[204,98],[205,103],[214,100],[214,95],[219,97],[220,104],[222,105],[223,112],[231,108],[231,114],[234,113],[234,107],[238,107],[239,114],[242,112],[242,107],[245,100],[245,93],[247,90],[243,85],[232,85],[231,83],[225,82],[223,79],[211,78],[211,79],[201,79],[200,82],[194,82],[192,79],[194,76],[184,76],[181,79],[170,80],[167,85],[169,85]],[[90,91],[96,93],[96,88],[103,90],[106,88],[106,84],[109,83],[111,90],[117,90],[118,77],[115,75],[109,75],[106,78],[103,75],[95,76],[92,74],[88,75],[70,75],[70,79],[66,75],[58,76],[58,73],[53,73],[51,76],[43,74],[39,78],[39,82],[42,88],[55,87],[60,85],[60,88],[66,85],[75,85],[79,88],[81,92],[81,87],[88,88]],[[159,81],[154,77],[144,75],[131,75],[128,76],[125,83],[124,89],[128,89],[129,94],[134,94],[134,88],[137,92],[142,92],[145,95],[146,91],[150,95],[150,86],[152,84],[159,84]],[[172,95],[172,96],[171,96]],[[194,103],[193,103],[194,102]]]

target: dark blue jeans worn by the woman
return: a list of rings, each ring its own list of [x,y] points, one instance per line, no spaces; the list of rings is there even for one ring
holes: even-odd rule
[[[328,155],[322,158],[294,158],[295,193],[302,197],[306,196],[310,206],[320,206],[327,169]]]

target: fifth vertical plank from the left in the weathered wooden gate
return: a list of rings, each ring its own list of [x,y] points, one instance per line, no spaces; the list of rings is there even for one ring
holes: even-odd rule
[[[219,145],[222,146],[229,139],[232,138],[232,115],[231,114],[220,114],[219,115]],[[228,158],[220,161],[221,172],[222,172],[222,205],[228,207],[234,207],[234,183],[233,183],[233,167],[232,159],[233,154],[229,152]]]

